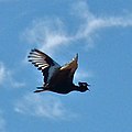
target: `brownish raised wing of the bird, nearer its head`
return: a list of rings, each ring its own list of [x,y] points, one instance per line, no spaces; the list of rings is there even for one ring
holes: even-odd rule
[[[69,73],[68,74],[68,78],[69,81],[73,81],[74,78],[74,74],[76,72],[78,67],[78,54],[76,54],[76,56],[73,58],[73,61],[70,61],[68,64],[65,64],[64,66],[61,67],[61,72],[62,73]]]

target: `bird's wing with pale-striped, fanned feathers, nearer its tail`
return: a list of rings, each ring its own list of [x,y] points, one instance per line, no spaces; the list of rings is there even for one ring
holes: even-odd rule
[[[29,62],[31,62],[38,70],[42,70],[44,76],[44,82],[47,84],[56,69],[61,68],[61,65],[53,61],[45,53],[34,48],[30,52]]]

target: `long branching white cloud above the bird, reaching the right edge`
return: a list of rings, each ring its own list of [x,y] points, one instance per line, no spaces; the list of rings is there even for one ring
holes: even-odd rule
[[[94,42],[96,34],[102,29],[107,30],[108,28],[116,26],[132,28],[132,13],[119,16],[96,15],[90,11],[86,1],[74,3],[70,12],[73,12],[78,20],[81,20],[75,34],[66,31],[65,22],[59,18],[54,18],[33,21],[32,25],[23,33],[23,36],[30,43],[34,43],[38,48],[45,52],[53,52],[62,45],[75,45],[78,40]]]

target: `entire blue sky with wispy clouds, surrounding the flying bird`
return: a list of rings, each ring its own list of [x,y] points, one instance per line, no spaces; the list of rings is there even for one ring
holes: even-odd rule
[[[0,132],[132,131],[131,0],[0,0]],[[90,91],[33,94],[31,48],[57,63],[79,54]]]

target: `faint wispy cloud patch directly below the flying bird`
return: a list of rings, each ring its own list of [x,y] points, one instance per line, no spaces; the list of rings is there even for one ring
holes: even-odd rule
[[[54,96],[26,95],[14,105],[15,112],[40,118],[69,120],[75,117],[66,110],[62,101]]]

